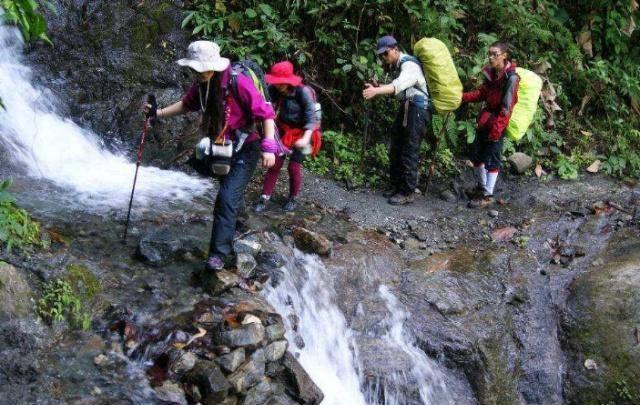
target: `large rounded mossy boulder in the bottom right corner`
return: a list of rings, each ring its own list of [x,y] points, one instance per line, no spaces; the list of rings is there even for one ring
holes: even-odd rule
[[[563,325],[568,399],[640,404],[640,239],[619,235],[601,259],[570,287]]]

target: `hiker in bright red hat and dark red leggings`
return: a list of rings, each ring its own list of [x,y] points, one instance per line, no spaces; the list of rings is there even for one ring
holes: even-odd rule
[[[302,165],[307,155],[315,156],[320,150],[320,121],[316,116],[316,98],[312,88],[296,76],[293,64],[282,61],[274,64],[265,75],[269,94],[276,109],[276,125],[281,141],[291,149],[289,172],[289,198],[282,207],[285,211],[297,208],[296,198],[302,188]],[[265,210],[278,180],[285,156],[277,156],[276,163],[267,171],[262,195],[254,206],[255,212]]]

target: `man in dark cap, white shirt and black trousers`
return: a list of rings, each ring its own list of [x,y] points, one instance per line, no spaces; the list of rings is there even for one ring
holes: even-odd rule
[[[400,101],[398,115],[391,127],[391,189],[383,195],[389,197],[389,204],[409,204],[414,201],[418,183],[420,141],[427,126],[431,125],[427,81],[420,61],[403,53],[392,36],[384,36],[378,40],[376,54],[383,63],[400,71],[391,83],[382,86],[367,83],[362,92],[366,100],[381,95],[394,95]]]

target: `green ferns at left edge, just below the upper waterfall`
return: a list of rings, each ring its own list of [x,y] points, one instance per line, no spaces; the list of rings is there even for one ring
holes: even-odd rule
[[[15,197],[7,191],[10,186],[11,180],[0,182],[0,245],[9,251],[14,246],[20,249],[44,247],[40,225],[16,205]]]

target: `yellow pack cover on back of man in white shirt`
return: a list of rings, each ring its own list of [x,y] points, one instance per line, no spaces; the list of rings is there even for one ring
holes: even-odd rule
[[[436,38],[422,38],[413,46],[413,54],[422,62],[436,111],[457,110],[462,103],[462,83],[447,46]]]

